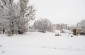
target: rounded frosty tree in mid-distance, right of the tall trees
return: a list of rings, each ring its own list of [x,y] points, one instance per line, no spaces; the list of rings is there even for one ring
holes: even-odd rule
[[[39,19],[34,23],[35,29],[40,32],[51,31],[51,22],[48,19]]]

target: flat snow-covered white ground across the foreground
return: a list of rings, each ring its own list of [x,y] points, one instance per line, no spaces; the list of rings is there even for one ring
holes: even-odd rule
[[[28,32],[8,37],[0,34],[0,55],[85,55],[85,36]]]

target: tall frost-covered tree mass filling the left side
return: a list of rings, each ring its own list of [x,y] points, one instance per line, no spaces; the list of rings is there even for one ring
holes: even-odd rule
[[[27,31],[28,21],[34,19],[34,9],[27,6],[28,0],[0,0],[0,20],[7,34],[22,34]]]

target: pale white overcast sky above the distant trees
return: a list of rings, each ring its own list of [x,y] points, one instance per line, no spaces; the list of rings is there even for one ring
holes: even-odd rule
[[[36,19],[48,18],[52,23],[75,25],[85,19],[85,0],[30,0]]]

